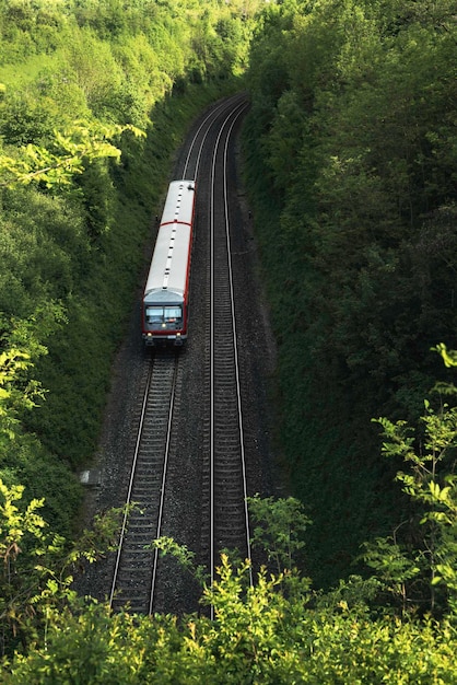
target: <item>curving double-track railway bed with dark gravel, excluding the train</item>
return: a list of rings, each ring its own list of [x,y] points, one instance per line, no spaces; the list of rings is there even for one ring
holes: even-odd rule
[[[197,181],[189,340],[177,356],[143,352],[147,388],[136,410],[126,495],[137,506],[125,519],[113,565],[109,602],[116,611],[127,604],[140,613],[197,607],[195,581],[150,548],[160,535],[195,549],[212,579],[223,547],[250,557],[246,496],[260,489],[253,474],[262,428],[244,417],[257,361],[248,358],[237,304],[244,285],[236,285],[234,272],[243,274],[239,245],[247,239],[239,217],[233,219],[237,191],[228,159],[246,106],[243,94],[214,105],[196,123],[176,163],[175,178]]]

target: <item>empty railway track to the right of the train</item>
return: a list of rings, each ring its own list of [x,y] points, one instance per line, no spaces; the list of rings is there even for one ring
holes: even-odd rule
[[[242,113],[243,107],[235,109],[231,120],[221,128],[212,165],[208,298],[211,315],[207,332],[210,407],[208,446],[204,451],[210,474],[209,559],[212,581],[222,549],[237,549],[244,558],[250,558],[227,175],[227,147]]]

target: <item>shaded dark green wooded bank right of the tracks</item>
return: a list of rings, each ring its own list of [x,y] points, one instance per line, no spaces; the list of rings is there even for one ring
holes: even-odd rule
[[[319,584],[410,514],[371,418],[415,422],[449,380],[430,348],[456,339],[455,58],[446,0],[286,1],[253,45],[248,188]]]

